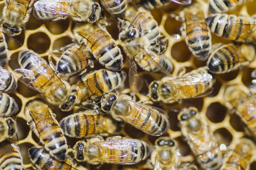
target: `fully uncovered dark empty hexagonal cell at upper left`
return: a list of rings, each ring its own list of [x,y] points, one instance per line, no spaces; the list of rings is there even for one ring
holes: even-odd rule
[[[49,49],[50,43],[51,40],[47,34],[38,32],[29,36],[27,45],[29,49],[36,53],[43,54]]]

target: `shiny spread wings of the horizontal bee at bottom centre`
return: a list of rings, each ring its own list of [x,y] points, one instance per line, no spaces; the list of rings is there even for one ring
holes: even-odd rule
[[[120,139],[96,142],[96,144],[98,144],[100,147],[105,147],[112,150],[111,153],[116,153],[102,156],[100,158],[101,162],[113,164],[136,164],[138,161],[140,161],[139,159],[136,160],[138,154],[133,152],[132,149],[129,150],[129,148],[139,148],[142,146],[142,144],[137,140]]]

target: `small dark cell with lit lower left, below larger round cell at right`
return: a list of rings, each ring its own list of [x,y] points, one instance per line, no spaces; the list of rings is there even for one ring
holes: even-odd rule
[[[229,146],[233,139],[232,134],[226,128],[215,130],[214,135],[218,145],[225,144],[226,146]]]

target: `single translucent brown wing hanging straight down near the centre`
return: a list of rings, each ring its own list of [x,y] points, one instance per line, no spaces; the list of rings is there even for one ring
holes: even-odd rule
[[[129,85],[134,93],[139,92],[143,86],[143,79],[138,75],[137,64],[134,59],[129,59]]]

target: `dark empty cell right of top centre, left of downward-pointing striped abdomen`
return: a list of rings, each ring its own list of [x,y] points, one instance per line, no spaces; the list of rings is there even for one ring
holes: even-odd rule
[[[191,56],[191,52],[186,45],[185,41],[177,42],[171,49],[172,58],[177,62],[186,62]]]

